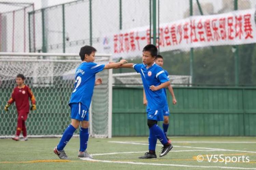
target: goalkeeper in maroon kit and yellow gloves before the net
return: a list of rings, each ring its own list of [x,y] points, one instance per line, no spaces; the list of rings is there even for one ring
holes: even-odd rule
[[[24,84],[25,77],[23,74],[18,74],[16,77],[17,86],[13,89],[12,97],[5,105],[4,110],[8,111],[8,107],[15,102],[17,113],[18,113],[18,120],[17,120],[17,130],[16,136],[12,138],[13,140],[18,141],[20,132],[24,136],[24,140],[28,140],[27,138],[27,129],[25,125],[25,121],[27,120],[28,113],[29,113],[29,99],[31,100],[32,106],[30,110],[37,109],[35,106],[35,97],[31,91],[31,89]]]

